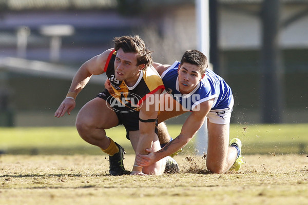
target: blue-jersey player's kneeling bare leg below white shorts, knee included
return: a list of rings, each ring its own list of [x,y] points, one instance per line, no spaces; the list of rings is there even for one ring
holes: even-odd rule
[[[229,124],[214,124],[207,120],[208,149],[206,167],[213,173],[224,173],[232,167],[237,149],[229,147]]]

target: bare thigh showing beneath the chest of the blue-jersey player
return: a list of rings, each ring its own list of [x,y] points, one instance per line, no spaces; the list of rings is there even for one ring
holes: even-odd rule
[[[161,96],[160,102],[161,112],[158,115],[158,123],[187,112],[187,110],[183,110],[182,105],[179,104],[168,93],[165,93],[163,96]]]

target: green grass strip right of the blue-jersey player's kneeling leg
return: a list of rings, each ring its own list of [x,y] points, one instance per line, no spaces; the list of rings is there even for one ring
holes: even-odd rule
[[[230,138],[238,136],[244,154],[304,154],[308,149],[307,124],[233,125]]]

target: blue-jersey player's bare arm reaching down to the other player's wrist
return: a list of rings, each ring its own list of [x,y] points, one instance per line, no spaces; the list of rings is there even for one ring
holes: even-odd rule
[[[137,156],[137,165],[148,166],[151,163],[158,161],[185,147],[203,125],[205,117],[213,106],[213,103],[214,99],[210,99],[201,103],[200,110],[192,111],[191,114],[187,117],[178,137],[170,141],[165,147],[157,152],[146,150],[149,152],[148,155],[139,154]]]

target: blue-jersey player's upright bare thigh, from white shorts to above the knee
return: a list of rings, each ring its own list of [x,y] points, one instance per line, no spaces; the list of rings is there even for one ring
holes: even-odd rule
[[[207,120],[208,147],[206,160],[208,162],[224,162],[229,146],[229,124],[215,124]]]

